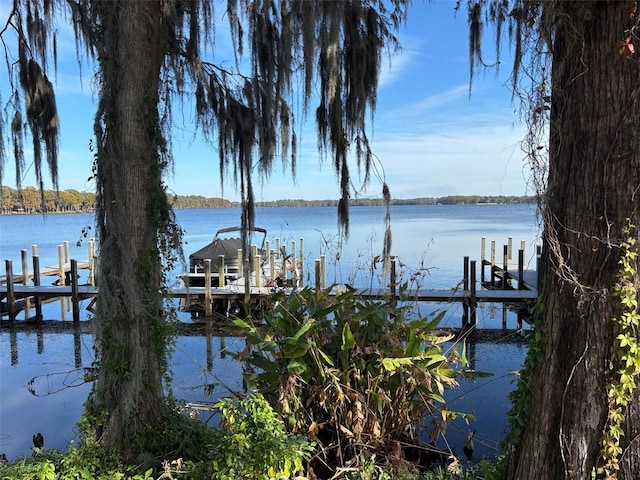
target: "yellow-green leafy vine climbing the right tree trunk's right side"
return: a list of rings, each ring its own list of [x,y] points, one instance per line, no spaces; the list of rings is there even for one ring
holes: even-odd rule
[[[636,377],[640,374],[640,350],[635,336],[635,329],[640,323],[638,314],[638,291],[635,285],[637,273],[637,246],[633,233],[635,226],[629,223],[623,234],[626,240],[620,244],[622,257],[618,264],[618,283],[613,287],[613,296],[620,301],[621,313],[614,321],[620,326],[620,334],[616,337],[619,342],[620,367],[614,379],[607,385],[609,400],[609,414],[604,434],[602,436],[602,450],[600,452],[603,466],[597,473],[602,478],[614,480],[617,478],[619,459],[622,455],[620,438],[624,435],[622,425],[625,421],[624,410],[633,398],[636,389]]]

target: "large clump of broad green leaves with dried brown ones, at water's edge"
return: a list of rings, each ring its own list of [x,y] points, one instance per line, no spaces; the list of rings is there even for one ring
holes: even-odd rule
[[[248,386],[278,405],[292,432],[321,445],[325,464],[344,466],[362,451],[397,455],[390,446],[419,439],[425,415],[434,441],[465,417],[446,408],[443,393],[458,373],[475,372],[464,370],[460,349],[443,351],[451,339],[437,330],[443,312],[411,320],[406,299],[363,300],[352,288],[280,292],[273,303],[260,327],[235,320],[247,344],[237,358]]]

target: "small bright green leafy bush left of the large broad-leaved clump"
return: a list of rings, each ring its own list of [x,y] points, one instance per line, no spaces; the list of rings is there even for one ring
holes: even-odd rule
[[[216,404],[222,429],[211,443],[211,458],[189,478],[211,480],[280,480],[302,470],[314,445],[301,436],[287,435],[282,421],[261,395]]]

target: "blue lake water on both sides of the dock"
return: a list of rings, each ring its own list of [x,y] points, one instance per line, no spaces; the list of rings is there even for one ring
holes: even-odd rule
[[[239,209],[181,210],[178,221],[185,230],[184,250],[196,251],[208,244],[215,231],[238,225]],[[369,286],[381,280],[380,266],[371,271],[371,258],[382,252],[384,209],[352,207],[351,230],[347,242],[338,235],[334,207],[259,208],[256,225],[266,228],[271,245],[275,238],[291,249],[304,239],[304,269],[313,278],[314,260],[327,258],[327,281]],[[0,260],[13,260],[20,270],[20,250],[38,245],[41,266],[57,265],[57,246],[69,241],[70,257],[84,260],[87,241],[83,232],[93,227],[90,214],[0,216]],[[525,244],[525,263],[535,266],[539,228],[534,205],[428,205],[392,208],[392,254],[402,263],[399,272],[422,288],[453,288],[462,279],[463,257],[480,261],[481,237],[496,241],[498,256],[502,245],[513,238],[514,250]],[[92,230],[91,230],[92,231]],[[90,231],[90,232],[91,232]],[[91,233],[89,233],[89,237]],[[82,240],[81,245],[76,242]],[[273,247],[272,247],[273,248]],[[4,262],[3,262],[4,267]],[[179,274],[180,269],[174,274]],[[373,280],[372,280],[373,279]],[[53,280],[53,279],[52,279]],[[437,306],[424,305],[425,313]],[[60,302],[45,305],[47,320],[69,319]],[[461,306],[448,306],[446,322],[458,326]],[[87,315],[83,311],[83,315]],[[188,314],[181,320],[189,322]],[[501,328],[500,307],[485,306],[478,312],[479,327]],[[508,316],[509,328],[515,318]],[[515,334],[514,334],[515,335]],[[211,401],[203,385],[215,383],[214,395],[226,394],[225,386],[240,390],[240,366],[225,348],[238,350],[233,337],[183,335],[178,337],[172,359],[173,388],[177,398],[193,402]],[[460,453],[461,438],[468,429],[476,431],[476,455],[493,456],[495,443],[506,427],[513,371],[520,368],[525,354],[522,342],[502,340],[470,345],[477,370],[494,376],[465,382],[448,395],[451,407],[476,414],[471,425],[449,428],[452,446]],[[3,319],[0,328],[0,451],[10,459],[29,455],[31,436],[42,432],[45,447],[64,448],[75,438],[74,425],[90,390],[83,383],[82,367],[93,361],[93,340],[87,329],[70,328],[61,333],[42,333],[10,328]],[[35,379],[31,381],[32,379]],[[35,395],[34,395],[35,393]]]

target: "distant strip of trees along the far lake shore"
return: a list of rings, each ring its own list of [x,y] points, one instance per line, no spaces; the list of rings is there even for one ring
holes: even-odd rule
[[[43,202],[44,197],[44,202]],[[232,202],[219,197],[201,195],[169,195],[175,210],[196,208],[239,208],[240,202]],[[95,205],[95,194],[78,190],[44,190],[42,195],[35,187],[24,187],[20,191],[2,187],[0,194],[0,215],[43,213],[78,213],[92,212]],[[473,205],[473,204],[522,204],[536,203],[534,196],[503,195],[448,195],[444,197],[396,198],[392,205]],[[256,207],[335,207],[338,200],[302,200],[286,199],[258,201]],[[350,206],[384,206],[382,198],[354,198]]]

